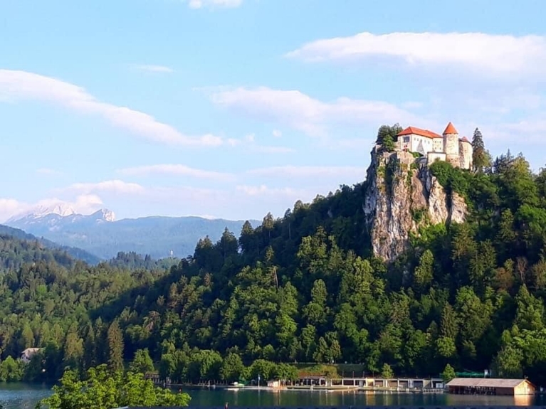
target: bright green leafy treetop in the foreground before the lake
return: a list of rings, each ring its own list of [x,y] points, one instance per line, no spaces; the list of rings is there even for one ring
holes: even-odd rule
[[[142,373],[110,372],[105,365],[89,368],[86,378],[65,371],[53,395],[41,401],[49,409],[112,409],[123,406],[187,406],[187,393],[172,393],[145,380]]]

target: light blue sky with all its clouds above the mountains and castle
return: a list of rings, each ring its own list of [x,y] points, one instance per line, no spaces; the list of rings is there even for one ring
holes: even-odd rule
[[[282,216],[382,124],[544,165],[541,0],[0,1],[0,221]]]

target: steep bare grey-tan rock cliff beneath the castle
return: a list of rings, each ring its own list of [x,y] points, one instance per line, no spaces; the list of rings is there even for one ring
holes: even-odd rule
[[[448,193],[408,152],[372,151],[364,196],[364,215],[374,255],[392,261],[409,248],[409,237],[419,227],[461,223],[466,218],[464,198]]]

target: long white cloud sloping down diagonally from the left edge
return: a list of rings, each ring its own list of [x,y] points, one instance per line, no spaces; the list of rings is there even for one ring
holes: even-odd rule
[[[164,144],[215,147],[221,137],[212,134],[189,136],[151,115],[127,107],[100,102],[82,87],[55,78],[17,70],[0,70],[0,99],[53,102],[70,110],[95,114],[127,131]]]

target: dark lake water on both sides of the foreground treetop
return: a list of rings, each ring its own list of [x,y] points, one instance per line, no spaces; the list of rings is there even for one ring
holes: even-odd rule
[[[185,389],[191,395],[191,406],[298,406],[298,405],[545,405],[544,397],[469,396],[448,394],[386,394],[325,391],[267,391],[225,389]],[[51,393],[48,386],[23,383],[1,383],[0,404],[4,409],[33,409],[41,398]]]

